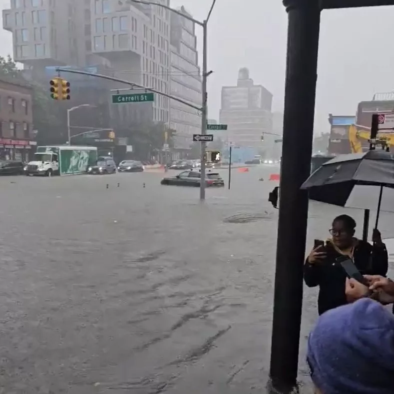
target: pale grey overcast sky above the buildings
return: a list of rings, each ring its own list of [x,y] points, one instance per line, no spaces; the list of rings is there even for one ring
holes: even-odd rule
[[[82,0],[81,0],[82,1]],[[2,8],[9,4],[0,0]],[[211,0],[171,0],[204,19]],[[354,115],[358,102],[394,89],[393,7],[324,11],[320,35],[315,133],[328,131],[328,113]],[[209,21],[209,117],[218,118],[223,85],[236,83],[248,67],[255,83],[274,94],[282,110],[287,14],[281,0],[217,0]],[[201,49],[201,28],[197,28]],[[10,33],[0,30],[0,54],[12,50]],[[201,61],[201,50],[199,53]]]

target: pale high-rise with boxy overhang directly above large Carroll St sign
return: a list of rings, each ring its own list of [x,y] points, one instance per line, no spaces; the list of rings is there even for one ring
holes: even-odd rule
[[[92,53],[108,59],[117,77],[169,94],[170,11],[127,0],[90,1]],[[136,116],[150,109],[153,121],[168,124],[167,97],[156,94],[152,104],[133,107]]]

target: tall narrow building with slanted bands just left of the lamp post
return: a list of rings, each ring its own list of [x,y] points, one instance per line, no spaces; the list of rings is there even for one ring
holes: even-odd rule
[[[179,11],[191,17],[183,6]],[[195,23],[172,13],[170,42],[171,95],[201,107],[202,86]],[[170,100],[170,119],[170,127],[176,131],[175,149],[189,150],[193,134],[201,131],[201,114],[179,101]]]

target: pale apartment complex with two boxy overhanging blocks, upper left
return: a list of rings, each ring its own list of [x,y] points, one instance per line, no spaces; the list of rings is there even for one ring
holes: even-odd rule
[[[170,17],[162,7],[127,0],[11,0],[2,17],[3,28],[12,32],[13,57],[24,68],[39,73],[45,66],[103,66],[122,79],[169,93]],[[168,123],[169,99],[155,95],[153,104],[121,105],[115,111],[124,119],[143,114]]]

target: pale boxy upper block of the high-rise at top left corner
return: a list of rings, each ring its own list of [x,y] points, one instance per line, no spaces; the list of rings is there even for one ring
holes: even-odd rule
[[[84,65],[85,40],[80,38],[85,26],[79,19],[86,4],[82,0],[11,0],[2,19],[3,28],[12,32],[14,60],[25,68]]]

